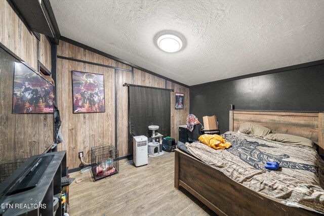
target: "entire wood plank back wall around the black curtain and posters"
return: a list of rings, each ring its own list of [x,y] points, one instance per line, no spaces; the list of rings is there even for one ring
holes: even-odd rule
[[[119,157],[132,154],[128,147],[128,88],[123,87],[123,84],[128,82],[138,85],[166,88],[166,80],[135,68],[132,72],[132,67],[129,65],[116,62],[112,59],[68,44],[65,41],[59,42],[57,55],[127,69],[115,70],[104,66],[95,66],[58,58],[58,106],[62,118],[61,129],[64,138],[63,144],[59,145],[59,150],[67,151],[67,163],[69,168],[75,168],[80,165],[80,160],[77,155],[78,152],[84,151],[88,162],[90,161],[91,147],[115,144],[115,83],[117,90],[116,141]],[[105,75],[105,113],[73,114],[72,70],[101,73]],[[171,136],[175,137],[177,140],[177,127],[178,125],[185,124],[186,117],[189,114],[189,89],[170,81],[168,81],[167,84],[167,88],[174,88],[175,92],[185,94],[185,109],[175,110],[174,93],[171,93]]]

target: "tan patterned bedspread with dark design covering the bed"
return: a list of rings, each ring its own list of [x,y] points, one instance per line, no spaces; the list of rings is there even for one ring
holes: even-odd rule
[[[324,162],[316,151],[235,132],[222,135],[232,144],[215,150],[200,142],[188,151],[235,182],[283,204],[324,213]],[[276,161],[278,170],[264,168]]]

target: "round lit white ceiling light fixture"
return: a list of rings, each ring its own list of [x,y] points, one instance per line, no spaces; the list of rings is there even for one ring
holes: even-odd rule
[[[158,48],[168,53],[175,53],[183,48],[183,40],[173,33],[159,34],[156,42]]]

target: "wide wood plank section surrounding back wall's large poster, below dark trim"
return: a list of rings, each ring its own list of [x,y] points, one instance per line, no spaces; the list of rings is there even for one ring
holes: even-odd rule
[[[78,152],[83,151],[89,160],[91,147],[114,144],[114,89],[109,87],[114,87],[115,72],[110,68],[62,59],[58,59],[57,70],[57,97],[64,138],[58,150],[67,151],[69,167],[77,167]],[[72,70],[104,74],[106,112],[73,114]]]

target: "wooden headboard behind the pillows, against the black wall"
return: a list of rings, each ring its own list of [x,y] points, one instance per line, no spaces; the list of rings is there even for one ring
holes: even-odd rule
[[[229,111],[229,131],[237,132],[244,122],[268,127],[273,133],[308,138],[318,144],[319,154],[324,155],[323,112]]]

